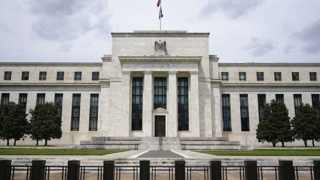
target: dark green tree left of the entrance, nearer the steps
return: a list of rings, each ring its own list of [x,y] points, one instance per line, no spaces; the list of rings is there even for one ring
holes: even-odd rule
[[[45,102],[44,104],[36,104],[35,109],[30,109],[31,114],[31,138],[38,141],[44,140],[45,146],[48,140],[60,139],[62,136],[61,116],[57,106],[53,102]]]

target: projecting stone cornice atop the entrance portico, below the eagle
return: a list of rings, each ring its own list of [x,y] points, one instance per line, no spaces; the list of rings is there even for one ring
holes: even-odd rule
[[[202,56],[119,56],[121,64],[140,64],[140,63],[186,63],[200,64]]]

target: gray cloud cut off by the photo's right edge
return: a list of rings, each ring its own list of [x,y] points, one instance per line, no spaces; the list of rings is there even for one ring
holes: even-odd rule
[[[320,19],[316,22],[305,26],[301,31],[292,34],[294,39],[304,43],[302,51],[312,54],[320,52]]]

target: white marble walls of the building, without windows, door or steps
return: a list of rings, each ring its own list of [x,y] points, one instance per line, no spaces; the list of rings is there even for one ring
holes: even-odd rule
[[[155,116],[159,115],[165,116],[168,137],[223,136],[244,145],[258,145],[257,94],[266,94],[267,102],[275,99],[275,94],[284,94],[291,118],[293,94],[302,94],[302,102],[309,104],[311,94],[320,94],[320,64],[218,63],[216,55],[209,55],[208,37],[209,33],[186,31],[112,33],[112,55],[104,55],[102,63],[0,63],[0,93],[9,93],[14,102],[18,102],[19,93],[28,93],[27,111],[34,108],[37,93],[45,93],[45,101],[54,101],[55,93],[63,93],[63,135],[50,145],[77,145],[91,136],[154,136]],[[159,40],[166,41],[165,52],[156,52],[154,44]],[[12,72],[11,80],[4,80],[5,71]],[[29,80],[21,80],[22,71],[29,72]],[[39,80],[41,71],[47,72],[46,80]],[[58,71],[64,72],[64,80],[56,80]],[[82,79],[75,81],[74,72],[82,72]],[[92,72],[100,72],[99,80],[92,80]],[[221,72],[228,72],[228,81],[221,80]],[[239,81],[239,72],[246,72],[246,81]],[[257,81],[256,72],[264,72],[263,81]],[[274,80],[274,72],[282,73],[282,81]],[[299,81],[292,81],[292,72],[299,72]],[[310,81],[309,72],[316,72],[316,81]],[[143,78],[141,131],[131,129],[134,77]],[[166,109],[154,110],[155,77],[167,80]],[[188,78],[188,131],[178,131],[178,77]],[[70,131],[72,94],[81,94],[78,131]],[[89,131],[90,94],[99,94],[97,131]],[[232,131],[223,131],[221,94],[230,94]],[[239,94],[248,94],[250,131],[241,131]],[[35,142],[27,138],[17,144]],[[259,144],[264,145],[268,144]]]

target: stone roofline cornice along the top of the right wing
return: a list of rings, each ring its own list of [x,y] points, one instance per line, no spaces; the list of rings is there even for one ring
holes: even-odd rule
[[[320,67],[320,63],[218,63],[218,67]]]

